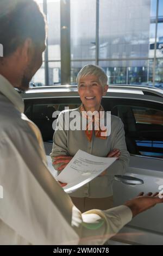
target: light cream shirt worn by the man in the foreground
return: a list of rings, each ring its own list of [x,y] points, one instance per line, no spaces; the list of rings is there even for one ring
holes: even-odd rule
[[[40,131],[23,109],[0,75],[0,244],[103,244],[131,220],[130,209],[81,214],[49,172]]]

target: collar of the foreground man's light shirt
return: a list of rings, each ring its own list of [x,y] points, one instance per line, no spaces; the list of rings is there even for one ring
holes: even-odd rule
[[[18,111],[21,113],[24,112],[24,102],[21,95],[18,94],[12,84],[2,75],[0,75],[0,93],[6,96]]]

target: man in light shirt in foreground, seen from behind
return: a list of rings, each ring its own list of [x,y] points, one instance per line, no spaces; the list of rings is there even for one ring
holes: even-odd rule
[[[0,25],[0,243],[103,244],[163,199],[148,194],[110,210],[81,214],[49,173],[40,131],[23,114],[15,90],[27,90],[42,64],[45,17],[34,0],[1,0]]]

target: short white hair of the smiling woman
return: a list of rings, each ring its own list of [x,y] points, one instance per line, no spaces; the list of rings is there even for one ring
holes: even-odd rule
[[[106,76],[104,70],[100,66],[88,64],[88,65],[85,65],[82,69],[80,69],[77,75],[78,86],[79,86],[80,79],[88,75],[97,76],[99,79],[99,82],[101,83],[101,86],[105,86],[108,82],[108,77]]]

